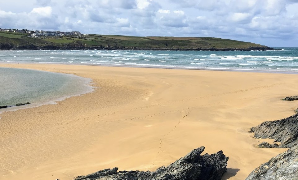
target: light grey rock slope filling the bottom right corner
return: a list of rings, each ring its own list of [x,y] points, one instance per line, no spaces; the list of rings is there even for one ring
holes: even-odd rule
[[[256,168],[246,180],[297,180],[297,167],[298,145]]]

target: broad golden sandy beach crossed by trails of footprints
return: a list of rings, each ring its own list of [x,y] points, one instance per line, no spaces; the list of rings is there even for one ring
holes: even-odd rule
[[[293,74],[1,64],[93,79],[95,92],[0,114],[1,180],[71,180],[100,169],[155,170],[194,148],[229,156],[243,180],[285,151],[256,148],[249,128],[292,115]],[[37,79],[38,80],[38,79]]]

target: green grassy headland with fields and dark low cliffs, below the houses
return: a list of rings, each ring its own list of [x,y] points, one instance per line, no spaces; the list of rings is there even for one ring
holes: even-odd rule
[[[214,37],[90,34],[32,38],[22,33],[0,32],[0,49],[269,50],[271,48],[250,42]]]

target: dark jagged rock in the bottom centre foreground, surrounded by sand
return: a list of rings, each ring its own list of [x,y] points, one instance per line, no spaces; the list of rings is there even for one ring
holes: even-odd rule
[[[118,168],[104,169],[87,176],[78,176],[74,180],[220,180],[227,171],[226,157],[222,151],[201,156],[204,147],[194,149],[186,156],[154,172],[118,171]]]

